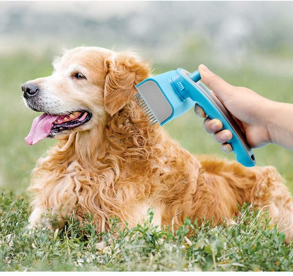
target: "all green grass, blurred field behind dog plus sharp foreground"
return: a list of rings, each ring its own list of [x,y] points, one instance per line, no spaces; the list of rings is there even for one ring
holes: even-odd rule
[[[95,234],[90,225],[78,226],[74,218],[70,218],[67,231],[26,230],[25,189],[30,171],[55,140],[46,139],[33,147],[25,143],[24,137],[37,113],[24,106],[21,84],[51,74],[51,58],[50,53],[38,57],[26,54],[0,57],[3,116],[0,186],[6,192],[0,200],[1,270],[293,270],[292,245],[282,243],[284,237],[268,222],[266,214],[256,216],[247,206],[241,210],[244,215],[235,217],[233,226],[211,228],[206,225],[196,230],[190,241],[184,238],[185,227],[172,234],[167,229],[159,231],[146,224],[119,233],[120,239],[102,251],[96,249],[95,244],[99,238],[111,240],[111,233]],[[190,64],[181,66],[190,71],[194,69]],[[159,73],[176,65],[155,64],[154,67]],[[249,67],[239,72],[212,66],[211,69],[231,84],[249,87],[273,100],[293,102],[292,78],[264,75]],[[234,159],[233,154],[221,152],[192,110],[165,128],[192,153]],[[293,192],[290,162],[293,153],[275,145],[254,150],[254,153],[258,165],[277,167]]]

